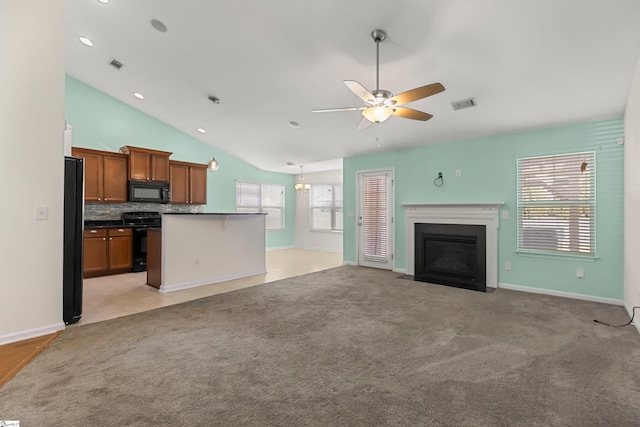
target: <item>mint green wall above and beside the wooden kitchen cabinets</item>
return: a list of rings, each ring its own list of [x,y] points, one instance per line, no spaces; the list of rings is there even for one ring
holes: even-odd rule
[[[172,160],[193,163],[207,163],[215,155],[220,169],[207,172],[205,212],[235,212],[236,180],[284,184],[285,231],[268,232],[267,247],[294,245],[293,175],[256,169],[70,76],[66,78],[65,119],[73,127],[75,147],[117,152],[131,145],[170,151]]]

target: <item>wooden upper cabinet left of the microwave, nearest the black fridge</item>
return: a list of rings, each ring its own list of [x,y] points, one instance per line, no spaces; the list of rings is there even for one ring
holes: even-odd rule
[[[84,159],[86,202],[127,201],[127,156],[88,148],[71,148],[73,157]]]

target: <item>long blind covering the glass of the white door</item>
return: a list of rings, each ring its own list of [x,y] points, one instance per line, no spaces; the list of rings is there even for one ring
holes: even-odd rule
[[[372,176],[362,180],[363,255],[387,258],[387,177]]]

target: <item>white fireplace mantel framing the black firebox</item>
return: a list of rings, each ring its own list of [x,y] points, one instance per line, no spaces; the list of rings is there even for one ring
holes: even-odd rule
[[[403,204],[405,208],[407,274],[415,274],[416,224],[484,225],[487,242],[487,287],[498,287],[498,228],[503,203]]]

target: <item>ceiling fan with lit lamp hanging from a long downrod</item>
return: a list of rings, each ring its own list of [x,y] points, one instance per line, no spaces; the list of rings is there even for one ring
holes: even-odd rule
[[[415,89],[393,95],[390,91],[380,89],[380,42],[387,37],[384,30],[375,29],[371,31],[371,39],[376,43],[376,89],[369,91],[355,80],[345,80],[344,84],[355,93],[356,96],[364,101],[362,107],[345,107],[345,108],[329,108],[323,110],[313,110],[313,113],[327,113],[333,111],[362,111],[362,120],[358,125],[358,129],[369,127],[372,123],[382,123],[389,117],[398,116],[405,119],[426,121],[433,117],[431,114],[413,110],[401,105],[407,104],[418,99],[426,98],[444,90],[444,86],[440,83],[432,83],[430,85],[417,87]]]

